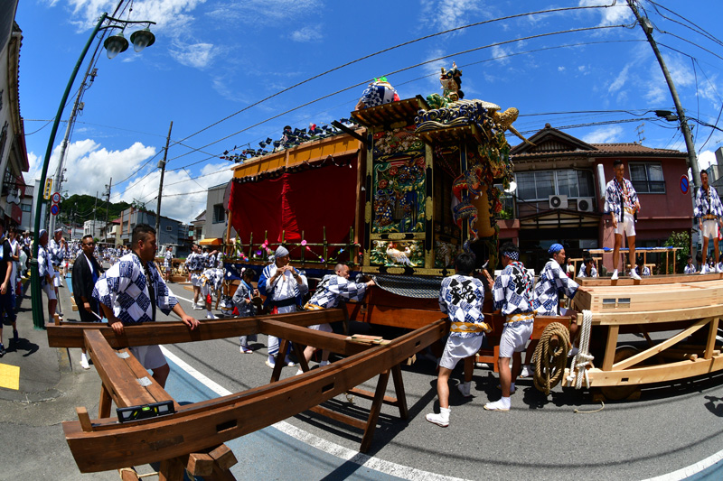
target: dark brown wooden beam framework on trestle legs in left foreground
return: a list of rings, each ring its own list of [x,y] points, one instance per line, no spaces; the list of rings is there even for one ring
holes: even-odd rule
[[[438,314],[437,314],[438,315]],[[443,338],[447,322],[437,319],[423,328],[389,341],[346,337],[312,330],[308,326],[346,319],[343,310],[316,310],[255,318],[217,319],[189,330],[182,322],[155,322],[124,329],[120,336],[102,324],[56,322],[48,324],[50,347],[86,347],[102,381],[98,418],[91,419],[78,408],[78,421],[63,422],[63,431],[73,458],[82,473],[121,470],[123,479],[137,479],[129,467],[160,462],[161,479],[183,479],[188,470],[206,479],[234,479],[229,468],[233,453],[222,443],[266,428],[300,412],[312,410],[346,422],[364,431],[361,451],[371,447],[382,403],[408,416],[399,365],[421,349]],[[204,402],[179,405],[130,355],[127,347],[175,344],[265,333],[293,342],[304,375],[278,381],[283,359],[271,383],[242,393]],[[343,356],[341,361],[313,371],[301,356],[303,346],[324,348]],[[279,349],[283,356],[284,346]],[[374,393],[357,388],[379,375]],[[390,376],[396,398],[386,396]],[[367,421],[360,421],[320,406],[342,393],[371,399]],[[173,413],[137,421],[119,422],[111,417],[111,402],[117,407],[141,409],[155,402],[173,406]],[[124,477],[126,476],[126,477]]]

